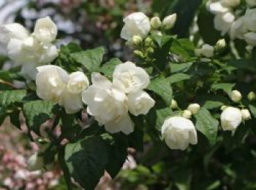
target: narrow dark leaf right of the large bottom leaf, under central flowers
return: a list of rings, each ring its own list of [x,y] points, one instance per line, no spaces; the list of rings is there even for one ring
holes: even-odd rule
[[[115,178],[127,159],[128,139],[123,133],[113,135],[114,143],[110,145],[106,170]]]

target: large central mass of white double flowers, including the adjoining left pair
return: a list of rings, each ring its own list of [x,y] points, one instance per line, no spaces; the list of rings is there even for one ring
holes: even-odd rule
[[[149,76],[135,63],[116,66],[113,82],[99,73],[91,74],[91,86],[80,71],[67,74],[59,66],[39,66],[37,70],[39,98],[59,103],[67,114],[78,112],[85,103],[88,113],[111,133],[133,132],[134,124],[128,111],[135,116],[147,114],[155,103],[143,91],[150,82]]]

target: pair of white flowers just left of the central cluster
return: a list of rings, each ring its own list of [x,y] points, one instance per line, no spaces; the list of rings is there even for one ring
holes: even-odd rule
[[[83,108],[81,93],[89,87],[89,80],[83,72],[67,74],[59,66],[37,67],[37,95],[43,100],[51,100],[64,106],[67,114]]]

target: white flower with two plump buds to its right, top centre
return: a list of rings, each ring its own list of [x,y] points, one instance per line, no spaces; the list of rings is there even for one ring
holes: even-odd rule
[[[157,31],[160,27],[170,30],[176,23],[176,14],[165,17],[162,22],[159,17],[152,17],[151,20],[143,12],[134,12],[124,18],[124,28],[121,30],[121,38],[132,41],[133,36],[140,36],[145,39],[148,33],[161,33]]]

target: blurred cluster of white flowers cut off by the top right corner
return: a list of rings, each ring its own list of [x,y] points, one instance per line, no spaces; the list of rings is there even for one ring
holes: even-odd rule
[[[230,34],[231,39],[244,39],[247,44],[256,46],[256,6],[255,0],[246,0],[245,15],[234,8],[241,4],[240,0],[210,0],[207,8],[214,17],[214,27],[222,35]]]

